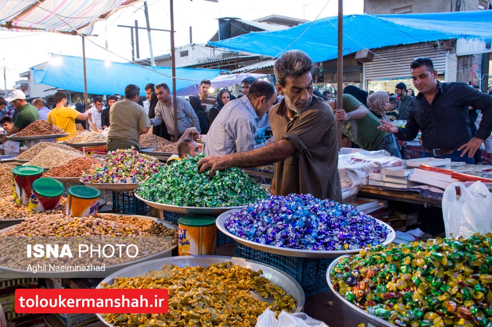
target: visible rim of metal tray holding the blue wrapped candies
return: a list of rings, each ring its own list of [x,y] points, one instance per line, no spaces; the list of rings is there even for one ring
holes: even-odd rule
[[[338,251],[313,251],[313,250],[301,250],[301,249],[296,249],[296,248],[287,248],[287,247],[279,247],[279,246],[273,246],[273,245],[265,245],[265,244],[259,244],[256,242],[248,241],[243,238],[240,238],[239,236],[236,236],[232,233],[230,233],[224,226],[225,220],[229,218],[230,214],[237,212],[239,210],[230,210],[228,212],[224,212],[220,216],[215,219],[215,224],[217,225],[218,230],[220,230],[222,233],[225,235],[229,236],[230,238],[234,239],[234,241],[239,242],[243,245],[252,247],[254,249],[260,250],[260,251],[265,251],[269,253],[275,253],[275,254],[280,254],[280,255],[287,255],[291,257],[302,257],[302,258],[338,258],[341,255],[344,254],[355,254],[359,253],[361,249],[353,249],[353,250],[338,250]],[[383,245],[388,245],[396,237],[395,230],[391,228],[390,225],[387,223],[376,219],[376,221],[380,225],[386,226],[390,232],[386,236],[386,239],[383,242]]]

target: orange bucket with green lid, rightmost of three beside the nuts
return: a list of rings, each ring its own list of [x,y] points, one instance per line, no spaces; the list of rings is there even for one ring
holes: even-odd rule
[[[97,217],[100,197],[101,192],[90,186],[71,186],[66,198],[66,214],[72,217]]]

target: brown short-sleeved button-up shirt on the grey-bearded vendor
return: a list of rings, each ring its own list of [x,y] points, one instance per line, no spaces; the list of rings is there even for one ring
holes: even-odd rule
[[[342,201],[338,176],[337,122],[333,110],[313,96],[309,107],[291,120],[285,101],[270,111],[274,141],[290,140],[297,151],[275,163],[275,192],[310,193],[320,199]]]

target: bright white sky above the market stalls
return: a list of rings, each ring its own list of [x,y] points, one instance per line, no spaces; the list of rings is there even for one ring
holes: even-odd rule
[[[362,14],[364,0],[345,0],[343,14]],[[171,29],[168,0],[147,0],[151,28]],[[146,27],[143,1],[118,11],[105,21],[95,24],[91,36],[86,39],[86,57],[129,62],[131,61],[130,28],[118,25]],[[338,15],[337,0],[174,0],[175,46],[189,43],[189,27],[192,27],[193,43],[207,43],[218,28],[217,18],[237,17],[254,20],[270,15],[282,15],[309,21]],[[152,31],[154,56],[170,53],[169,32]],[[336,37],[336,35],[320,35]],[[107,43],[107,49],[106,49]],[[147,31],[139,31],[140,58],[150,57]],[[7,89],[21,80],[19,74],[32,66],[43,63],[50,54],[82,57],[80,36],[58,33],[33,33],[0,31],[0,90]],[[3,67],[5,66],[5,70]],[[4,74],[5,72],[5,74]],[[1,92],[3,94],[3,92]]]

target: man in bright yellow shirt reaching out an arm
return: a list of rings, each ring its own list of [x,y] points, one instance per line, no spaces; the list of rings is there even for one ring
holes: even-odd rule
[[[57,142],[64,141],[73,136],[77,136],[77,128],[75,127],[75,119],[86,120],[91,114],[90,111],[80,113],[77,110],[66,107],[66,94],[63,92],[55,93],[56,107],[48,113],[48,122],[60,127],[65,133],[70,133],[66,137],[57,138]]]

